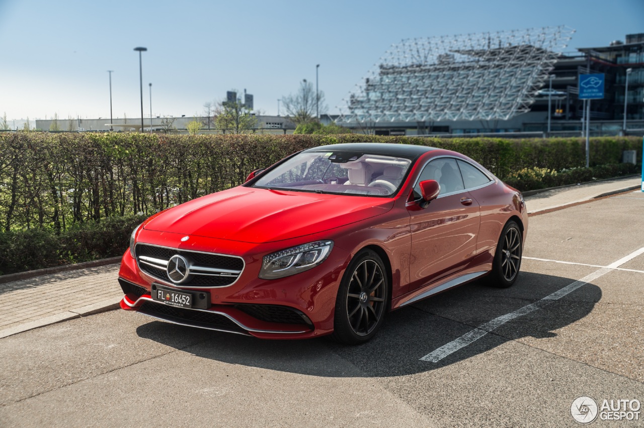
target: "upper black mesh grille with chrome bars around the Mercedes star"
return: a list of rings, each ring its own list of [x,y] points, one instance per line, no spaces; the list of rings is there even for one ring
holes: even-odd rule
[[[191,278],[182,281],[178,284],[179,287],[225,287],[237,280],[244,267],[243,260],[235,256],[196,253],[194,251],[156,247],[147,244],[137,244],[135,253],[137,254],[138,267],[142,271],[171,284],[174,283],[167,276],[167,270],[163,263],[167,264],[168,260],[175,254],[180,254],[190,260],[192,263],[190,269]],[[142,257],[144,257],[143,260]],[[146,257],[160,260],[161,262],[150,263],[148,260],[148,263],[144,263]],[[221,269],[222,272],[213,272],[213,269],[215,271]]]

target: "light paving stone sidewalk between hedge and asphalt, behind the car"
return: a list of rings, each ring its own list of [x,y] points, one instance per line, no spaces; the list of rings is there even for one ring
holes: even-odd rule
[[[526,204],[529,213],[540,213],[640,185],[639,177],[582,184],[526,197]],[[118,308],[117,278],[115,263],[0,283],[0,338]]]

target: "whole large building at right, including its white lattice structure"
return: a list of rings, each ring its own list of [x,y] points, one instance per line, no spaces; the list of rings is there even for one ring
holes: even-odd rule
[[[644,129],[644,34],[603,48],[562,51],[565,27],[407,39],[393,45],[324,121],[380,135],[487,133],[580,135],[579,75],[603,73],[605,98],[591,102],[591,135]],[[550,118],[548,114],[550,111]]]

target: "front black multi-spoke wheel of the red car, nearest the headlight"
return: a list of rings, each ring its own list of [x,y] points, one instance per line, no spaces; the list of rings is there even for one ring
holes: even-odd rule
[[[384,263],[374,251],[356,254],[337,291],[333,337],[346,344],[365,343],[383,325],[389,297]]]

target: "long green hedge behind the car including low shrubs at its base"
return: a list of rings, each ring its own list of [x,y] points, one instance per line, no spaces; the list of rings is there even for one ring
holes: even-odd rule
[[[580,138],[2,132],[0,272],[120,255],[156,211],[242,184],[298,150],[365,141],[456,150],[519,190],[638,172],[621,152],[637,150],[641,162],[642,147],[641,138],[592,138],[587,169]]]

